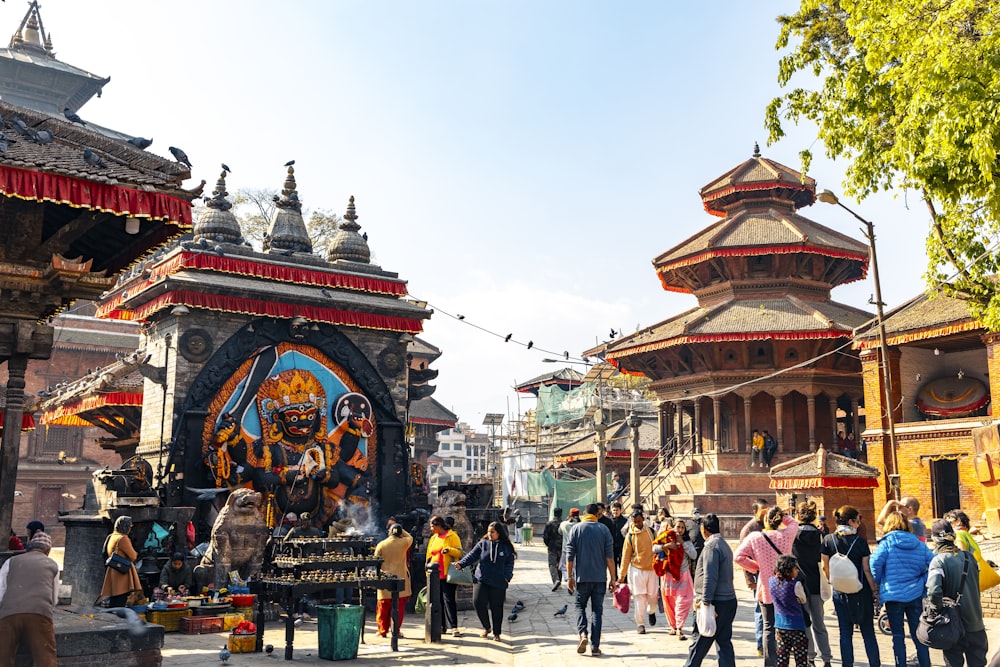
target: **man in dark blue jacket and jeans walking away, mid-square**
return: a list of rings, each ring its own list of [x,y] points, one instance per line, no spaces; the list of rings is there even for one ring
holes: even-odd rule
[[[597,503],[587,505],[587,513],[583,519],[569,531],[566,546],[567,587],[570,593],[576,594],[576,629],[580,633],[576,652],[586,652],[589,636],[591,655],[601,655],[604,591],[615,585],[611,531],[597,521],[597,510]],[[591,611],[589,628],[588,602]]]

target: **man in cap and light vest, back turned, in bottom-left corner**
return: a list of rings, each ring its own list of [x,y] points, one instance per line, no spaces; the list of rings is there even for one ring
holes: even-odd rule
[[[59,566],[49,558],[52,538],[32,535],[25,552],[0,567],[0,665],[14,664],[21,642],[35,667],[56,667],[52,608],[59,601]]]

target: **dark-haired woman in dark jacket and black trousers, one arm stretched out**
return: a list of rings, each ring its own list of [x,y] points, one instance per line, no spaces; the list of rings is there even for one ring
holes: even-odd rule
[[[483,624],[481,636],[489,637],[492,632],[493,641],[500,641],[503,605],[507,601],[507,585],[514,577],[515,558],[517,554],[506,526],[494,521],[483,539],[455,564],[461,570],[476,563],[472,604]]]

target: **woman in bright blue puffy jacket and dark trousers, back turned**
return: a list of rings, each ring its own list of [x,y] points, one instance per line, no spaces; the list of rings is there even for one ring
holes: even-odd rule
[[[917,623],[923,610],[927,567],[934,554],[911,532],[909,519],[902,512],[889,514],[882,524],[882,530],[885,533],[875,547],[869,564],[875,583],[878,584],[879,601],[885,605],[889,616],[896,667],[906,667],[904,615],[910,626],[910,636],[917,646],[917,662],[920,667],[930,667],[930,651],[917,641]]]

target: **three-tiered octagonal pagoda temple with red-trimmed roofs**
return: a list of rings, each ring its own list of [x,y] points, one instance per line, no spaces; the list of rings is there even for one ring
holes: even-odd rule
[[[711,453],[719,470],[746,470],[754,429],[788,453],[860,433],[851,340],[870,315],[831,290],[865,277],[868,246],[800,215],[815,181],[756,146],[700,195],[719,220],[653,260],[663,288],[698,306],[585,354],[649,377],[665,446]]]

